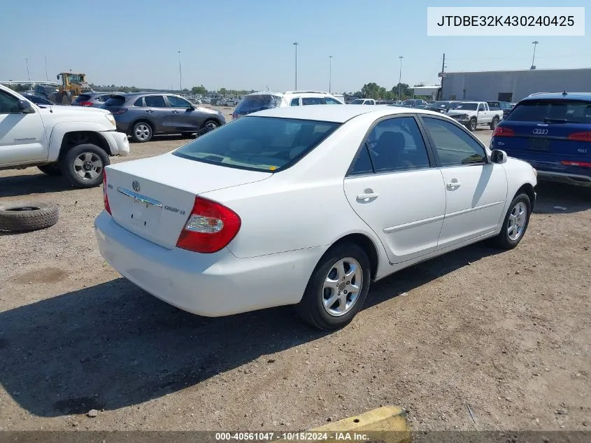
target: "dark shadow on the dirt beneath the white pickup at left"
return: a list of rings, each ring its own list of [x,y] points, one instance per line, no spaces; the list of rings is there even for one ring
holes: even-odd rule
[[[73,188],[62,176],[48,176],[38,171],[35,175],[17,175],[0,177],[0,198],[18,197],[30,194],[49,194],[50,192],[61,192],[73,190]]]

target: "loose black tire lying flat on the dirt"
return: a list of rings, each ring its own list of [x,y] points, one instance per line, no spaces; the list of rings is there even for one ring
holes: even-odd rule
[[[57,223],[57,205],[45,202],[0,204],[0,231],[24,232],[45,229]]]

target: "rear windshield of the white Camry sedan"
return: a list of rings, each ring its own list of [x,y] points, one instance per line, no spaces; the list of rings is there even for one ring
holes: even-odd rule
[[[178,148],[174,155],[220,166],[276,171],[287,169],[327,138],[339,123],[244,117]]]

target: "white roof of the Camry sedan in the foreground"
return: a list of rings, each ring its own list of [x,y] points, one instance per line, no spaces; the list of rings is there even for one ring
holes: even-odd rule
[[[357,115],[374,113],[376,118],[385,117],[387,115],[407,114],[407,113],[421,113],[426,115],[438,115],[440,113],[434,111],[427,111],[424,109],[399,108],[389,105],[325,105],[315,104],[308,106],[284,106],[278,108],[266,109],[265,111],[258,111],[243,118],[248,117],[278,117],[278,118],[294,118],[300,120],[318,120],[321,122],[335,122],[344,123]]]

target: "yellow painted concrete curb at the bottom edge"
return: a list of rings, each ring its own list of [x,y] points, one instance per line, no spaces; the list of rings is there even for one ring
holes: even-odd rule
[[[319,428],[299,433],[304,442],[371,442],[411,443],[411,428],[406,412],[396,406],[384,406],[347,419],[327,423]],[[294,439],[297,438],[294,436]],[[279,442],[294,440],[290,437]]]

